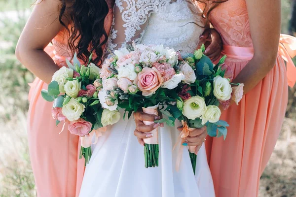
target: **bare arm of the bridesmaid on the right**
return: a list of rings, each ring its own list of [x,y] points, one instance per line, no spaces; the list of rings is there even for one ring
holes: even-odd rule
[[[233,80],[252,90],[273,68],[281,32],[281,0],[246,0],[254,45],[253,59]]]

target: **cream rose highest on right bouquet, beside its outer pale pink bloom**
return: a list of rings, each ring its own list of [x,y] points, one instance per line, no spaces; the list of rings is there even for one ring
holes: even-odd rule
[[[217,99],[226,101],[229,100],[232,93],[232,88],[229,81],[222,76],[214,78],[214,95]]]

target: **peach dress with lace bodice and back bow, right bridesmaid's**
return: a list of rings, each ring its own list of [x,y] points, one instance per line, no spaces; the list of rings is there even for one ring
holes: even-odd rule
[[[213,26],[222,36],[234,77],[253,57],[245,0],[228,0],[211,14]],[[286,112],[288,82],[295,83],[296,68],[289,56],[296,55],[296,38],[281,35],[274,68],[238,106],[222,113],[230,125],[226,140],[206,141],[208,162],[217,197],[257,197],[259,178],[274,149]],[[287,70],[285,62],[287,62]]]

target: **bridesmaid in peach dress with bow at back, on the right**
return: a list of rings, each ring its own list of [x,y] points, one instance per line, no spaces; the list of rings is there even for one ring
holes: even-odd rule
[[[226,65],[233,82],[245,84],[245,96],[222,113],[230,125],[226,140],[206,141],[208,161],[217,197],[256,197],[281,131],[288,85],[296,81],[296,38],[280,35],[281,0],[218,2],[204,11],[222,36]]]

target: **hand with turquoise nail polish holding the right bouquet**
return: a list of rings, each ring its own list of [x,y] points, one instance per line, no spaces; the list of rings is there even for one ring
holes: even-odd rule
[[[179,131],[183,130],[183,126],[178,127]],[[189,135],[185,138],[185,142],[182,144],[184,146],[196,146],[195,148],[195,155],[197,155],[197,152],[199,151],[200,147],[202,146],[203,142],[206,139],[207,133],[207,127],[204,126],[199,129],[195,129],[192,131],[189,131]]]

